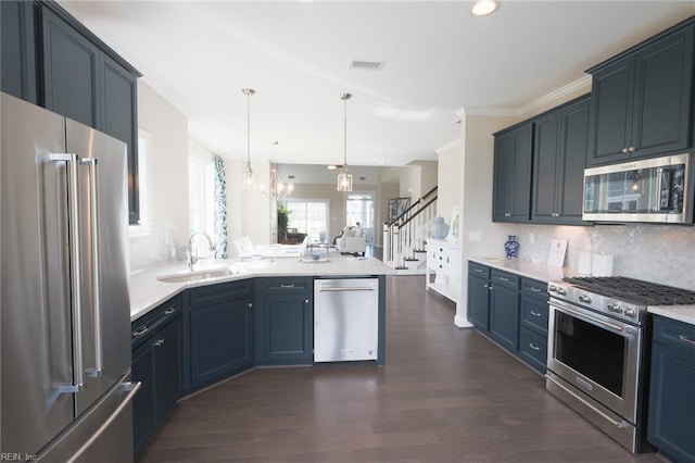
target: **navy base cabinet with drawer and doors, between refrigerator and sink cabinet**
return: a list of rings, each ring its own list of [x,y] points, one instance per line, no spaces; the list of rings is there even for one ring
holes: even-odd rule
[[[132,323],[132,400],[135,453],[139,454],[181,393],[181,305],[179,298]]]

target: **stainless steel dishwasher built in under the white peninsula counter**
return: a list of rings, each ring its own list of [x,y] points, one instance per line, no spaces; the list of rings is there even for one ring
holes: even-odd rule
[[[377,360],[379,279],[314,280],[314,362]]]

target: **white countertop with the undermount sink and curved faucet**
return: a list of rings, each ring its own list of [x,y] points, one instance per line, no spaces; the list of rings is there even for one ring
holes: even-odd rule
[[[229,268],[232,274],[189,283],[164,283],[157,277],[190,272],[185,262],[173,262],[130,274],[130,321],[144,315],[187,288],[256,276],[362,276],[391,275],[395,271],[374,258],[321,256],[317,262],[296,258],[261,260],[201,260],[195,272]]]

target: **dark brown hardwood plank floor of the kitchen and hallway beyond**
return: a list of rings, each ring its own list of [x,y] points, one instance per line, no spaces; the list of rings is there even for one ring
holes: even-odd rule
[[[257,368],[181,401],[143,462],[660,462],[632,455],[470,328],[388,279],[387,365]]]

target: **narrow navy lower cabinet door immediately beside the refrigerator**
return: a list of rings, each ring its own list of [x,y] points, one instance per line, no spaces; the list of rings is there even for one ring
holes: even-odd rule
[[[156,427],[155,352],[150,340],[132,353],[131,375],[140,381],[132,399],[132,437],[135,453],[140,453]]]

